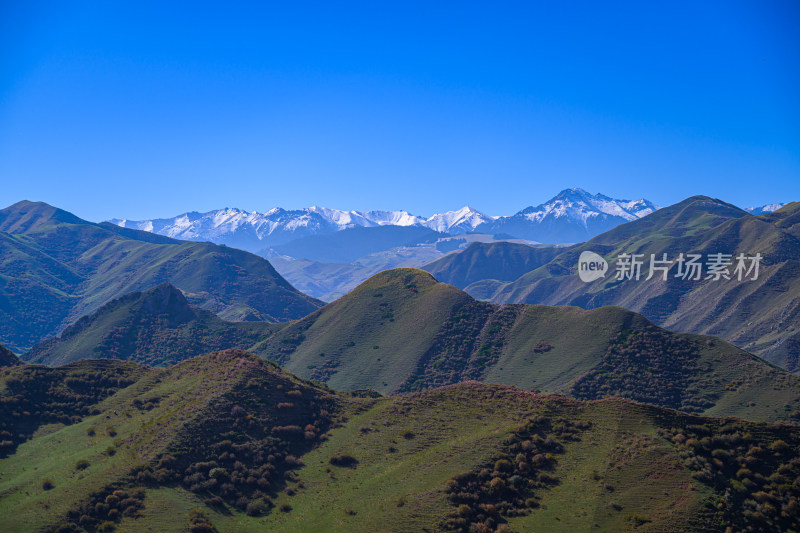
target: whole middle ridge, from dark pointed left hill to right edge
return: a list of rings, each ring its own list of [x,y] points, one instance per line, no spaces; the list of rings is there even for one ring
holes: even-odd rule
[[[163,366],[226,348],[247,348],[340,391],[482,381],[713,416],[800,415],[800,377],[718,338],[674,334],[619,307],[481,302],[416,269],[377,274],[287,324],[226,322],[162,284],[110,302],[23,359]]]

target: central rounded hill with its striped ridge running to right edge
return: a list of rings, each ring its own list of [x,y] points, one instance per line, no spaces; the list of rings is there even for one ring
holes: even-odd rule
[[[800,407],[800,378],[719,339],[618,307],[479,302],[416,269],[377,274],[252,350],[337,390],[481,380],[770,420]]]

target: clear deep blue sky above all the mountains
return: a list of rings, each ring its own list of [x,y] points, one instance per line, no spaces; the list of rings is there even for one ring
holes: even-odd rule
[[[378,4],[0,0],[0,204],[800,200],[800,2]]]

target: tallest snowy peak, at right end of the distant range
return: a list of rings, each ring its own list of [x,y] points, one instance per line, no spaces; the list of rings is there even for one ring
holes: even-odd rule
[[[508,233],[542,243],[583,242],[656,209],[647,200],[615,200],[574,188],[561,191],[544,204],[487,222],[476,231]]]

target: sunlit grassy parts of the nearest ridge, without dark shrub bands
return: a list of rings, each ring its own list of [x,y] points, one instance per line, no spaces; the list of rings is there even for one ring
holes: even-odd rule
[[[244,361],[212,356],[149,371],[101,402],[101,414],[39,428],[16,454],[0,460],[4,530],[40,530],[89,492],[155,461],[216,399],[237,394],[253,375]],[[286,374],[276,376],[306,387]],[[134,399],[153,396],[161,401],[152,410],[132,407]],[[340,425],[302,456],[305,466],[288,482],[295,494],[277,493],[266,516],[249,517],[232,507],[221,513],[185,488],[166,485],[147,487],[141,516],[124,518],[118,531],[185,531],[196,508],[221,532],[440,530],[455,510],[445,491],[448,479],[493,464],[519,424],[537,415],[586,422],[588,428],[556,456],[551,474],[559,482],[537,489],[538,508],[509,519],[514,530],[708,530],[702,503],[711,488],[692,477],[676,446],[657,432],[707,419],[619,399],[579,402],[477,383],[396,398],[340,396],[338,402]],[[106,432],[111,426],[118,432],[114,438]],[[94,436],[87,434],[90,427]],[[745,427],[754,433],[768,429]],[[790,431],[800,438],[798,430]],[[413,436],[407,438],[408,432]],[[105,451],[109,446],[115,446],[114,456]],[[356,468],[329,463],[341,453],[355,456]],[[77,471],[81,459],[91,465]],[[50,491],[41,488],[45,478],[55,486]],[[284,504],[290,512],[279,511]],[[646,522],[637,526],[634,516]]]

